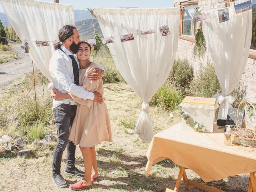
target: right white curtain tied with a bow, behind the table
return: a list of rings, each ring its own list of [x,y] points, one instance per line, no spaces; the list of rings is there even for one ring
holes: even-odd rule
[[[219,22],[218,11],[205,20],[206,40],[222,94],[214,96],[220,104],[218,119],[226,119],[234,98],[229,94],[238,85],[248,60],[252,38],[252,10],[235,13],[230,6],[229,20]]]

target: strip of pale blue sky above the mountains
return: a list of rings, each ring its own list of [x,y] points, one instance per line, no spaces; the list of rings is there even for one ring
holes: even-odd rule
[[[54,2],[54,0],[44,0]],[[83,8],[119,8],[119,7],[138,7],[138,8],[162,8],[173,7],[173,0],[59,0],[61,4],[72,4],[74,9]],[[4,12],[0,6],[0,12]]]

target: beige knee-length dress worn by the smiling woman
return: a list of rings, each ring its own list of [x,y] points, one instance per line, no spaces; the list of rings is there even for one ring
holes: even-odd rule
[[[80,69],[79,84],[87,91],[98,91],[103,95],[102,78],[96,81],[88,78],[89,74],[94,73],[93,70],[98,67],[98,64],[92,62],[87,68]],[[110,120],[105,103],[99,104],[70,95],[78,105],[68,140],[81,147],[96,146],[102,141],[112,142]]]

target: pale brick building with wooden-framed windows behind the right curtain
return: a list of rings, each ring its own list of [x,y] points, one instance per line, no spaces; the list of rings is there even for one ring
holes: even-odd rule
[[[176,58],[188,59],[194,66],[195,72],[199,69],[200,62],[206,63],[207,60],[210,62],[212,62],[212,60],[209,50],[207,50],[208,53],[203,61],[199,59],[194,61],[192,59],[195,43],[194,34],[196,33],[197,26],[195,21],[189,19],[197,14],[193,9],[199,8],[200,12],[204,14],[205,10],[230,6],[229,2],[231,1],[233,0],[174,0],[174,7],[180,7],[180,37]],[[253,11],[256,11],[256,0],[252,0],[252,5]],[[256,14],[252,19],[256,20]],[[252,40],[246,68],[240,81],[243,82],[246,87],[246,99],[256,103],[256,41]]]

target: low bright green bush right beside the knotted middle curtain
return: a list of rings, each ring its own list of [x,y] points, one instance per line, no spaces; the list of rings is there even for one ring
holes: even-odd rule
[[[178,109],[182,99],[183,97],[180,91],[168,84],[164,84],[156,94],[154,94],[149,104],[151,106],[162,107],[168,111],[174,111]]]

